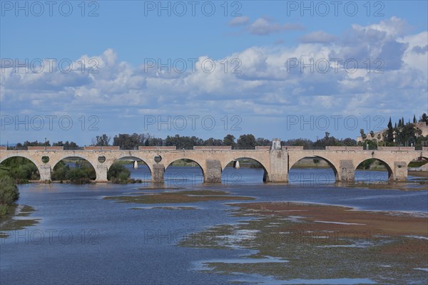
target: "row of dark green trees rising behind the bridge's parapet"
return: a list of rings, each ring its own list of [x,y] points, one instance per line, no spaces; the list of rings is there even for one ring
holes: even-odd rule
[[[387,129],[384,130],[382,135],[377,135],[375,138],[374,131],[370,131],[369,134],[365,134],[365,130],[360,130],[362,142],[357,143],[352,138],[338,139],[331,136],[330,133],[325,132],[325,136],[315,141],[297,138],[291,140],[282,140],[281,145],[290,146],[302,146],[305,149],[323,149],[326,146],[357,146],[357,145],[369,145],[370,149],[375,149],[377,145],[385,146],[399,146],[399,145],[414,145],[420,147],[421,145],[428,144],[428,136],[422,136],[422,130],[416,127],[418,120],[414,115],[412,123],[410,120],[408,123],[404,123],[404,118],[399,119],[398,123],[392,126],[391,118]],[[419,122],[424,122],[428,125],[428,116],[423,114],[419,118]],[[384,139],[385,138],[385,139]],[[58,141],[51,144],[49,140],[46,142],[39,141],[25,141],[24,143],[18,143],[16,147],[9,147],[9,149],[26,149],[29,146],[62,146],[64,150],[78,150],[81,147],[76,142]],[[113,137],[103,134],[97,135],[92,138],[91,145],[95,146],[118,146],[122,150],[136,150],[138,146],[175,146],[178,150],[191,150],[193,146],[231,146],[233,149],[254,149],[256,146],[270,146],[272,141],[266,138],[256,138],[253,134],[240,135],[239,138],[235,138],[234,135],[226,135],[223,139],[208,138],[203,140],[195,136],[180,136],[180,135],[168,135],[166,138],[156,138],[154,135],[149,133],[120,133]]]

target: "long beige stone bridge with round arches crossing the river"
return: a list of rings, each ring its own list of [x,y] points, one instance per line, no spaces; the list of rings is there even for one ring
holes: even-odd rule
[[[195,161],[203,171],[204,182],[221,182],[221,174],[228,163],[240,158],[258,161],[265,170],[263,181],[288,182],[292,165],[305,157],[326,160],[335,172],[336,181],[351,182],[361,162],[375,158],[386,165],[389,180],[406,180],[407,165],[412,160],[428,159],[428,147],[326,147],[325,150],[303,150],[302,147],[256,147],[255,150],[231,150],[230,147],[194,147],[176,150],[175,147],[139,147],[138,150],[119,150],[118,147],[85,147],[83,150],[63,150],[62,147],[29,147],[29,150],[6,150],[0,147],[0,163],[9,157],[25,157],[38,167],[41,181],[50,181],[55,165],[67,157],[81,157],[93,165],[96,182],[107,182],[107,172],[115,160],[129,158],[143,160],[151,171],[151,179],[163,181],[165,169],[175,160]],[[42,159],[45,158],[45,160]],[[49,161],[46,162],[46,157]],[[156,160],[161,161],[156,162]],[[46,163],[45,163],[45,162]]]

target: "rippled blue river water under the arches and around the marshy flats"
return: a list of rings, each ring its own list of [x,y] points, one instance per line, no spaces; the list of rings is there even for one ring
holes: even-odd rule
[[[130,167],[131,168],[131,167]],[[132,171],[148,179],[148,169]],[[356,174],[357,180],[386,180],[387,172]],[[409,180],[414,177],[409,177]],[[189,190],[225,190],[251,196],[251,202],[298,201],[337,204],[359,209],[428,212],[428,191],[374,190],[340,187],[330,169],[292,170],[290,183],[265,184],[263,170],[226,168],[221,185],[202,185],[197,167],[168,167],[165,187]],[[185,234],[216,224],[233,224],[226,202],[209,201],[180,206],[195,209],[135,210],[129,204],[103,197],[138,193],[131,185],[21,185],[19,204],[36,209],[40,219],[26,229],[0,239],[1,284],[228,284],[235,276],[207,274],[195,264],[207,259],[233,259],[242,252],[225,249],[178,247]],[[171,191],[148,188],[146,192]],[[165,206],[165,204],[162,204]],[[177,206],[177,204],[172,204]]]

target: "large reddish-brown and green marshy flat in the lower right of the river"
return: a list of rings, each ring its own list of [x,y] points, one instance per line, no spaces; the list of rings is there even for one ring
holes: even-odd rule
[[[305,284],[428,281],[427,213],[367,212],[289,202],[229,205],[238,207],[231,214],[250,219],[216,225],[196,233],[196,238],[184,239],[180,246],[250,252],[237,259],[201,261],[201,271],[249,274],[248,279],[235,281],[261,284],[282,284],[280,280],[292,284],[297,279]]]

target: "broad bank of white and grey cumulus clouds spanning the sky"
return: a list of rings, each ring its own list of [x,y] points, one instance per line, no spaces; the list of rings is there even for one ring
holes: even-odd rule
[[[267,19],[253,24],[259,35],[285,29]],[[0,100],[2,110],[5,105],[15,106],[16,113],[25,102],[34,110],[44,106],[61,112],[84,106],[92,111],[96,105],[113,116],[168,110],[250,117],[267,115],[267,110],[272,116],[389,115],[401,113],[404,100],[409,110],[419,113],[427,102],[428,33],[410,34],[406,26],[395,18],[352,26],[335,41],[327,41],[331,35],[315,31],[295,46],[253,46],[218,59],[201,55],[184,72],[134,68],[118,61],[113,49],[76,58],[76,66],[79,61],[86,63],[84,73],[80,69],[61,73],[58,68],[52,73],[16,73],[12,67],[2,67]],[[377,70],[382,72],[374,72],[379,68],[374,62],[377,58],[383,60]],[[357,68],[345,66],[347,59],[355,59]],[[88,72],[94,66],[90,61],[96,62],[97,73]],[[203,66],[204,62],[214,68]]]

